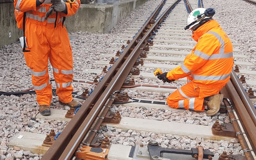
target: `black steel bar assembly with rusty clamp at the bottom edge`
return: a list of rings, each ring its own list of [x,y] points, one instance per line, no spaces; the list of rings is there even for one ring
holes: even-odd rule
[[[162,148],[158,142],[150,141],[147,146],[137,145],[134,151],[133,160],[217,160],[214,154],[209,149],[191,148],[187,149],[174,149]]]

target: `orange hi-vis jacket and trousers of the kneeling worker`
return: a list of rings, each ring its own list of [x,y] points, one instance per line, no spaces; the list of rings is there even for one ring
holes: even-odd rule
[[[187,76],[188,83],[167,98],[171,108],[203,111],[204,97],[218,94],[229,81],[233,68],[233,46],[220,24],[210,20],[193,32],[197,42],[183,64],[167,73],[168,79]]]

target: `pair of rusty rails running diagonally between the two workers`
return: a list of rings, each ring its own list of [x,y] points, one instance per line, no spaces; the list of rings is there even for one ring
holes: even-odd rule
[[[164,0],[158,5],[156,10],[148,19],[147,23],[140,29],[140,32],[133,38],[132,43],[124,50],[123,54],[116,60],[111,69],[104,76],[92,94],[82,105],[63,132],[54,141],[52,146],[43,156],[43,160],[70,159],[80,145],[85,135],[89,132],[93,122],[104,107],[108,97],[120,90],[126,77],[130,73],[133,64],[136,62],[143,48],[147,45],[147,40],[154,32],[158,24],[170,9],[180,2],[177,0],[172,4],[158,20],[153,21],[157,11],[164,5]],[[148,28],[149,24],[154,24]],[[148,32],[144,35],[143,33]],[[144,35],[144,36],[143,36]],[[143,37],[142,37],[143,36]],[[142,38],[141,38],[142,37]],[[140,41],[138,41],[140,39]],[[137,44],[138,43],[138,44]]]

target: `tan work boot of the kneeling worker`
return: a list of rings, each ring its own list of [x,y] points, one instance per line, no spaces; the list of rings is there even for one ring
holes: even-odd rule
[[[210,96],[209,101],[204,100],[204,105],[208,107],[208,111],[206,111],[207,116],[213,116],[220,110],[220,103],[223,100],[223,94],[215,94]]]

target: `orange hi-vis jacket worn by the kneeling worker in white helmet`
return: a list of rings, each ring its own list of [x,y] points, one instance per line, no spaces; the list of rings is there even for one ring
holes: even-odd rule
[[[229,81],[234,64],[230,39],[215,20],[199,27],[192,38],[197,41],[196,46],[181,66],[167,73],[167,78],[177,80],[187,76],[199,88],[221,89]]]

